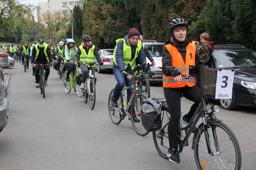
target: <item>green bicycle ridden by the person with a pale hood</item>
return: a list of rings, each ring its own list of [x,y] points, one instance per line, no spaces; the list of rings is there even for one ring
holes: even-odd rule
[[[69,63],[71,62],[72,61],[70,61]],[[66,81],[66,75],[68,71],[65,71],[63,75],[63,85],[66,93],[70,93],[71,89],[74,87],[74,92],[76,92],[79,97],[83,97],[84,93],[82,93],[79,84],[76,83],[76,76],[79,74],[79,71],[80,69],[76,67],[75,75],[73,75],[73,72],[71,72],[71,74],[69,75],[69,82]]]

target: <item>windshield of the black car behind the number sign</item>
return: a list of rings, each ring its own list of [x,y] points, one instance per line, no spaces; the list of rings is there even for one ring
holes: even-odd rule
[[[256,66],[256,53],[250,51],[214,51],[217,68]]]

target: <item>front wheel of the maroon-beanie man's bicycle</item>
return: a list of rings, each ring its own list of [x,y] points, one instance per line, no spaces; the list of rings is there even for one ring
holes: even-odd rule
[[[131,114],[131,122],[135,132],[138,133],[138,135],[140,136],[146,136],[147,134],[149,134],[149,132],[146,131],[146,129],[142,126],[142,121],[141,121],[141,108],[143,105],[143,101],[145,99],[147,99],[146,96],[139,94],[138,96],[135,97],[135,99],[132,101],[132,104],[131,104],[131,110],[133,107],[135,108],[136,116],[140,120],[140,122],[134,122],[133,115]]]

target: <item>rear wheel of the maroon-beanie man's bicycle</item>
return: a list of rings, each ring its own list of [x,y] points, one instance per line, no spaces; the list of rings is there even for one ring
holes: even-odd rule
[[[109,93],[107,107],[108,107],[108,113],[109,113],[109,117],[110,117],[111,121],[114,124],[118,125],[122,121],[122,119],[121,119],[120,111],[114,109],[113,106],[111,105],[111,97],[113,95],[113,92],[114,92],[114,89],[112,89]],[[123,99],[121,97],[119,97],[119,99],[117,100],[117,103],[119,106],[122,106]]]

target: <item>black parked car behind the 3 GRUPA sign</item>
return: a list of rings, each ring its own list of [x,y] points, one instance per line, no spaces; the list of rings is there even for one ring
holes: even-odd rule
[[[215,45],[208,65],[210,68],[235,69],[232,99],[219,99],[223,109],[256,106],[256,52],[241,45]]]

